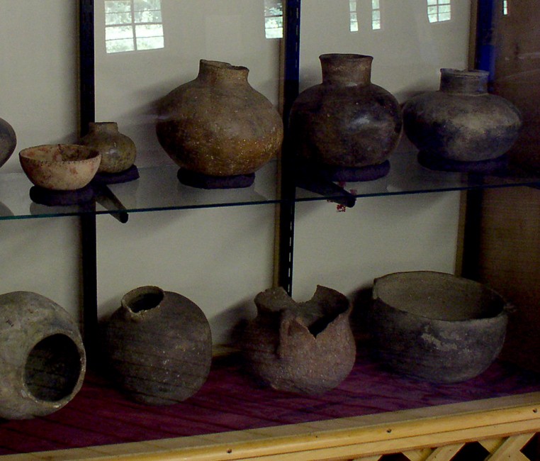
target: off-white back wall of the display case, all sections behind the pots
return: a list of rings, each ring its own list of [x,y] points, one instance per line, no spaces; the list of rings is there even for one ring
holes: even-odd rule
[[[0,0],[1,113],[18,134],[17,150],[75,140],[77,8],[73,0]],[[349,0],[303,2],[301,86],[320,82],[318,55],[375,56],[373,82],[407,95],[437,87],[439,67],[465,67],[468,1],[454,0],[454,20],[429,25],[424,0],[381,0],[383,30],[348,30]],[[155,139],[154,104],[195,77],[201,58],[249,67],[249,82],[277,103],[279,44],[264,38],[263,0],[162,0],[166,47],[106,55],[102,0],[96,0],[96,119],[118,121],[137,143],[137,165],[170,164]],[[359,11],[369,2],[359,0]],[[366,10],[367,11],[367,10]],[[367,21],[367,22],[366,22]],[[21,172],[16,155],[0,170]],[[1,201],[1,198],[0,198]],[[458,194],[366,199],[346,213],[320,201],[299,204],[295,297],[315,284],[352,294],[393,270],[451,272]],[[77,316],[79,229],[76,218],[0,221],[9,261],[0,291],[29,289]],[[178,291],[206,312],[216,343],[272,276],[273,206],[132,213],[127,224],[98,218],[99,309],[119,305],[143,284]]]

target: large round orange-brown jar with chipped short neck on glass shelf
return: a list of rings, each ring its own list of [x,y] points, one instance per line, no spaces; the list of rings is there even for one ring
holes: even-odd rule
[[[157,138],[180,167],[218,177],[251,174],[279,151],[281,116],[249,85],[248,72],[201,60],[197,78],[164,97]]]

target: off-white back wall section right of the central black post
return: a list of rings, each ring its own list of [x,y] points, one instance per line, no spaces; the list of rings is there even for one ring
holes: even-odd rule
[[[381,30],[371,29],[371,0],[356,2],[359,31],[349,28],[349,1],[307,0],[300,25],[300,89],[321,81],[319,55],[372,55],[371,81],[403,102],[437,89],[441,67],[465,68],[470,2],[453,0],[452,20],[429,23],[423,0],[381,0]],[[400,151],[415,155],[404,139]],[[354,189],[346,184],[345,189]],[[316,284],[352,295],[373,278],[399,270],[454,272],[459,193],[360,199],[346,212],[335,204],[298,204],[293,297]]]

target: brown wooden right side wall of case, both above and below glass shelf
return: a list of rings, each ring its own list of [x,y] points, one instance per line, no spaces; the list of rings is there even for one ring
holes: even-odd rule
[[[524,126],[513,162],[540,168],[540,9],[538,0],[496,6],[494,92],[522,112]],[[515,306],[502,357],[540,370],[540,191],[485,191],[480,280]]]

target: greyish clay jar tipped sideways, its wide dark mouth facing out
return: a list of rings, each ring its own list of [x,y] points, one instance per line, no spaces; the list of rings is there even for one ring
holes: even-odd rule
[[[0,418],[61,409],[85,371],[81,335],[61,306],[30,291],[0,295]]]

